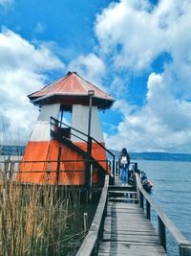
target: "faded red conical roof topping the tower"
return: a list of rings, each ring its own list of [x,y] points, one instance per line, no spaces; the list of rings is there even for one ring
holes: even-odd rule
[[[89,105],[89,91],[95,92],[93,105],[99,109],[109,108],[115,99],[101,91],[90,81],[79,77],[75,72],[69,72],[66,77],[45,86],[28,97],[34,105]]]

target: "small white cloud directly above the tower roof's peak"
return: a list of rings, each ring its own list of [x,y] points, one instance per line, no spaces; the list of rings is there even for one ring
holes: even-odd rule
[[[100,83],[105,75],[104,62],[95,54],[75,58],[69,63],[68,68],[93,83]]]

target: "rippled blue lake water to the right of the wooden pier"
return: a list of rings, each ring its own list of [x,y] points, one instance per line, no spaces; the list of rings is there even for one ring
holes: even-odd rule
[[[138,169],[154,183],[151,197],[191,242],[191,162],[136,160]],[[156,219],[157,220],[157,219]],[[156,224],[154,219],[154,225]],[[167,235],[168,236],[168,235]],[[178,244],[167,239],[167,255],[179,255]]]

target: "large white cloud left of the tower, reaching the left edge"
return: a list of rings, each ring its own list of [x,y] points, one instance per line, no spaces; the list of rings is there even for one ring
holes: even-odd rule
[[[24,143],[38,113],[27,95],[43,86],[47,71],[64,68],[64,64],[49,48],[34,46],[8,29],[0,34],[0,56],[0,140],[9,143],[12,136]]]

